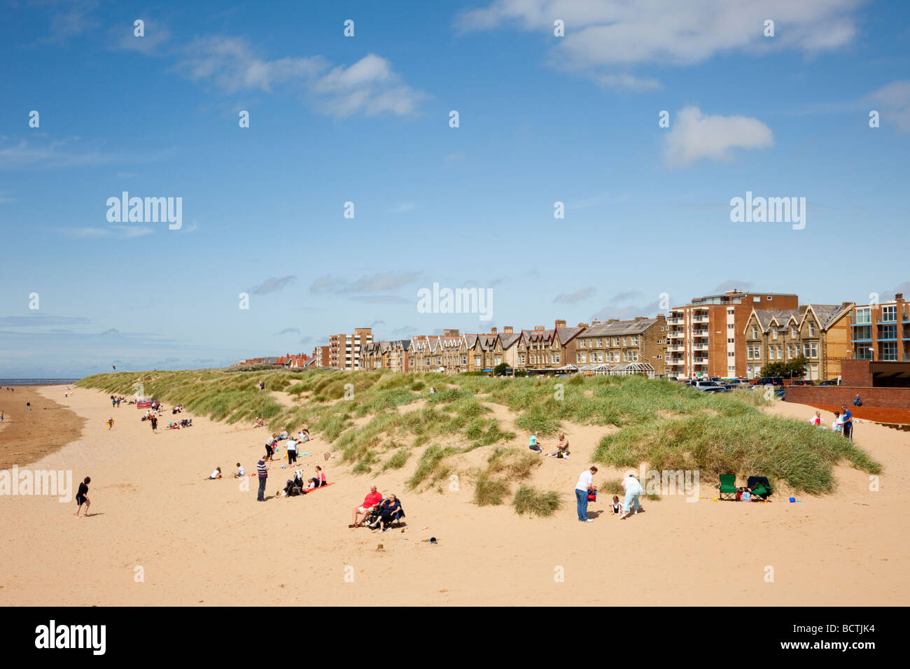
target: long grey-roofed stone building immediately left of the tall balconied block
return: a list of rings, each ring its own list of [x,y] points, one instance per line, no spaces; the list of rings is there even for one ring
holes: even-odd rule
[[[607,373],[637,372],[662,379],[666,376],[667,332],[663,314],[652,319],[595,321],[578,335],[571,362],[578,367],[608,364],[612,367]]]

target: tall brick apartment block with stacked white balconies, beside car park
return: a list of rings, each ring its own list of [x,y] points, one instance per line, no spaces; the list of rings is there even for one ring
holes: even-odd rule
[[[745,376],[745,325],[752,310],[798,308],[799,298],[794,294],[727,290],[670,309],[664,360],[667,376]]]

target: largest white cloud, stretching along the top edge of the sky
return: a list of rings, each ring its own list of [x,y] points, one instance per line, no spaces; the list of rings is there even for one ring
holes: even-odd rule
[[[852,13],[865,0],[494,0],[461,13],[464,31],[518,25],[552,37],[553,21],[565,23],[554,38],[553,64],[579,70],[602,84],[631,90],[659,86],[628,72],[633,66],[685,66],[726,52],[760,54],[796,49],[816,52],[848,44]],[[764,20],[775,36],[763,35]]]

